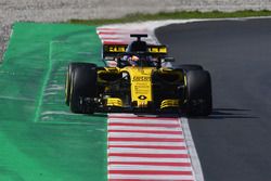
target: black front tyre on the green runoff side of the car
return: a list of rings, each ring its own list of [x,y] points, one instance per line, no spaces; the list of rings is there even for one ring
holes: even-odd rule
[[[93,64],[78,66],[72,72],[69,107],[73,113],[92,114],[94,112],[94,105],[90,104],[98,94],[96,77],[96,68]]]

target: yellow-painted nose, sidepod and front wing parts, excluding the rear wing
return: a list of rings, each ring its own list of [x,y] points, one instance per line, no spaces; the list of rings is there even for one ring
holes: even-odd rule
[[[150,103],[154,101],[152,74],[153,72],[157,70],[164,75],[172,74],[172,69],[170,68],[157,69],[156,67],[138,67],[138,66],[126,66],[124,68],[104,67],[104,69],[99,70],[98,74],[99,75],[109,74],[112,76],[129,75],[131,104],[133,107],[144,108],[150,106]],[[178,74],[178,77],[179,77],[178,79],[182,81],[183,79],[182,75]],[[100,82],[106,82],[105,80],[101,79],[100,76],[98,78]],[[109,88],[105,88],[105,91],[107,89]],[[179,107],[179,105],[180,105],[179,100],[164,100],[160,103],[160,108],[163,109],[168,107]],[[105,106],[122,107],[124,102],[119,98],[107,96],[105,100]]]

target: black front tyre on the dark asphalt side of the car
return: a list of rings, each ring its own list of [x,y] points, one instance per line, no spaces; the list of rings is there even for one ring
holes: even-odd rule
[[[211,79],[207,70],[190,70],[186,73],[186,96],[189,116],[208,116],[211,114]]]

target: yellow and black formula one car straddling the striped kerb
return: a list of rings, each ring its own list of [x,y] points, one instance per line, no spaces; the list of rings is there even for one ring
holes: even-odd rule
[[[201,65],[164,67],[172,62],[166,46],[147,44],[147,35],[130,35],[130,44],[104,44],[103,60],[115,67],[74,62],[66,76],[66,104],[73,113],[211,113],[210,75]]]

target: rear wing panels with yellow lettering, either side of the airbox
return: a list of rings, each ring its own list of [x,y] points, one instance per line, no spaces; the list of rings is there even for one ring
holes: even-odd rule
[[[128,44],[103,44],[103,59],[116,57],[120,53],[125,53]],[[159,57],[167,55],[167,46],[147,44],[147,53],[152,56]]]

